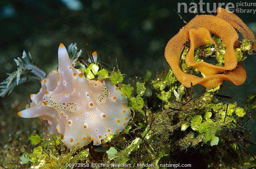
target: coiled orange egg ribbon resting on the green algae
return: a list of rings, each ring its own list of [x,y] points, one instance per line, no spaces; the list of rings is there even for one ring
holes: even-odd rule
[[[241,64],[238,64],[234,45],[237,43],[238,34],[235,28],[245,39],[252,42],[249,52],[255,50],[255,36],[244,22],[235,14],[223,8],[217,8],[217,16],[199,15],[193,18],[186,26],[180,29],[167,43],[165,58],[169,63],[177,80],[185,87],[201,84],[206,88],[214,88],[222,84],[223,80],[229,80],[235,85],[241,85],[246,80],[246,72]],[[225,65],[217,66],[204,61],[195,62],[194,49],[208,43],[215,43],[211,34],[219,36],[226,46]],[[187,65],[195,67],[206,77],[198,77],[182,72],[180,68],[180,56],[185,43],[190,40],[190,49],[186,55]],[[225,71],[229,71],[223,73]]]

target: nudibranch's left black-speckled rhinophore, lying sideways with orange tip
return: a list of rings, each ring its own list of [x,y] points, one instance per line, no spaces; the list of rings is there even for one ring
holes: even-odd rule
[[[76,105],[74,103],[56,103],[55,101],[52,101],[46,97],[43,97],[43,98],[46,101],[46,103],[43,102],[44,105],[46,105],[48,107],[54,107],[57,109],[67,110],[67,111],[71,111],[71,112],[75,112],[75,110],[76,110]]]

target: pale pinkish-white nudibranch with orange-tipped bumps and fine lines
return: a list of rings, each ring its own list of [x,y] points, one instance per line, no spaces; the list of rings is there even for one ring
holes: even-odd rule
[[[130,119],[128,100],[112,82],[88,80],[71,64],[63,43],[58,50],[59,69],[41,81],[41,89],[31,94],[30,108],[18,112],[23,118],[40,118],[46,132],[63,135],[68,148],[101,140],[124,130]]]

